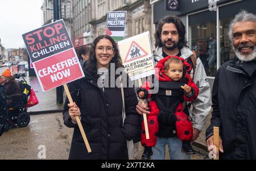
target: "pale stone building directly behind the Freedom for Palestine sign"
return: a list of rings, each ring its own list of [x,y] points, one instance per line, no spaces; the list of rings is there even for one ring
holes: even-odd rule
[[[127,11],[125,38],[150,31],[151,5],[149,0],[96,0],[94,2],[95,19],[92,20],[95,37],[106,32],[106,14],[108,11]]]

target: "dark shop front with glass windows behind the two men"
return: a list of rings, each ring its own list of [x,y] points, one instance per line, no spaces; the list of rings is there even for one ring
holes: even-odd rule
[[[169,0],[172,1],[172,0]],[[168,0],[154,4],[154,23],[177,15],[187,28],[188,45],[200,57],[212,86],[216,71],[236,56],[230,44],[229,23],[240,10],[256,13],[255,0],[179,0],[179,9],[168,9]],[[164,10],[163,10],[164,9]]]

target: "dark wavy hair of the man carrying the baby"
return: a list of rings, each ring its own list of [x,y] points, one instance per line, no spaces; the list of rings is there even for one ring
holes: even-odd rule
[[[162,33],[163,25],[166,23],[174,23],[177,28],[177,32],[179,33],[179,37],[180,37],[178,48],[181,49],[183,47],[188,47],[187,45],[188,42],[185,37],[185,34],[186,34],[185,26],[179,17],[172,16],[172,15],[165,16],[164,18],[159,20],[158,27],[156,28],[155,34],[154,34],[155,47],[163,47],[163,44],[161,41],[161,33]]]

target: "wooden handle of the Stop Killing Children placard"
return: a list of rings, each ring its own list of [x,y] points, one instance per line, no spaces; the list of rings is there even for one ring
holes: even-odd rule
[[[71,105],[73,105],[74,102],[73,102],[73,99],[72,99],[71,94],[69,92],[67,84],[64,84],[63,86],[64,86],[64,89],[65,89],[66,94],[68,96],[69,103],[71,103]],[[90,145],[88,143],[88,140],[87,140],[87,137],[85,135],[84,128],[82,127],[81,120],[80,120],[79,116],[76,116],[76,122],[77,122],[77,124],[79,126],[79,130],[82,134],[82,139],[84,139],[84,143],[85,143],[85,146],[87,148],[87,151],[88,151],[88,153],[90,153],[90,152],[92,152],[92,149],[90,149]]]

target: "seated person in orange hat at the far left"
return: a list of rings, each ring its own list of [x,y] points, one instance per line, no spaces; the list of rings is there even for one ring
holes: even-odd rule
[[[18,107],[19,102],[22,98],[22,92],[18,82],[16,82],[15,77],[11,75],[9,68],[2,73],[2,85],[5,87],[7,106],[8,107]]]

